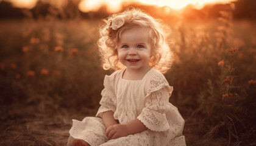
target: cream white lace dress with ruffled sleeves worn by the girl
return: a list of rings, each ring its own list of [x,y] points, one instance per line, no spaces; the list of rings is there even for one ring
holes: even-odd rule
[[[73,120],[68,145],[74,139],[83,139],[91,146],[186,145],[182,136],[184,120],[177,108],[169,103],[172,86],[163,74],[151,69],[142,80],[124,80],[124,71],[105,76],[105,88],[101,92],[101,106],[96,117]],[[121,124],[137,118],[148,130],[108,141],[101,119],[104,111],[113,111],[114,118]]]

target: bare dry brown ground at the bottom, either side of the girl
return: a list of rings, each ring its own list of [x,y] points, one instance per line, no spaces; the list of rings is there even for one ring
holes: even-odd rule
[[[85,116],[93,116],[96,109],[52,108],[44,106],[44,110],[36,105],[12,105],[1,107],[0,145],[66,145],[71,127],[71,119],[82,120]],[[191,109],[180,108],[185,119],[190,116]],[[187,145],[227,145],[225,139],[205,139],[196,136],[196,119],[185,123],[183,134]]]

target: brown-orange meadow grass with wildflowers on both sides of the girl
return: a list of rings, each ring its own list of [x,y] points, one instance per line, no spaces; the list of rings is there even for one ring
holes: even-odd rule
[[[98,109],[104,75],[112,72],[101,68],[98,55],[101,23],[1,21],[1,113],[8,114],[4,111],[14,103],[37,105],[42,114],[48,108]],[[165,74],[174,86],[170,102],[186,124],[196,122],[192,133],[222,137],[228,145],[255,144],[255,22],[232,21],[223,12],[219,21],[183,20],[169,26],[175,57]]]

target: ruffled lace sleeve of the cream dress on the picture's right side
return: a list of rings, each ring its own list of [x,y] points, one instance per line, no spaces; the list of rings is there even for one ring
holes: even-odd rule
[[[169,123],[166,112],[170,110],[169,97],[173,90],[165,77],[159,72],[146,82],[146,97],[144,97],[144,108],[137,117],[149,130],[166,131]]]

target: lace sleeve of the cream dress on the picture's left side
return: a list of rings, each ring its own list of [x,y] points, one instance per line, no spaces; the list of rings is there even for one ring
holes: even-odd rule
[[[114,91],[113,77],[106,75],[104,78],[104,89],[101,92],[101,105],[98,109],[96,117],[102,117],[105,111],[116,111],[116,96]]]

